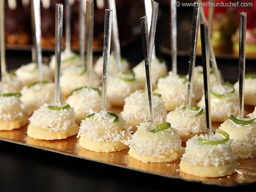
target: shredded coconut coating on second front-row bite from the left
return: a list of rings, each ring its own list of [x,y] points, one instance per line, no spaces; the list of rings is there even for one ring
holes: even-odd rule
[[[72,107],[69,109],[51,110],[48,108],[48,104],[43,104],[34,111],[28,120],[33,126],[52,132],[64,131],[76,126],[75,113]]]

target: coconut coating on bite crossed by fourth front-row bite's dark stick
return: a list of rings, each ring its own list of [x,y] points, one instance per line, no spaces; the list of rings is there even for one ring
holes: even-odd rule
[[[124,120],[126,122],[150,122],[150,110],[148,104],[148,93],[142,90],[136,90],[130,96],[125,98],[125,104],[122,112]],[[164,101],[153,95],[153,108],[156,123],[165,122],[166,109],[164,106]],[[139,123],[137,125],[140,125]]]

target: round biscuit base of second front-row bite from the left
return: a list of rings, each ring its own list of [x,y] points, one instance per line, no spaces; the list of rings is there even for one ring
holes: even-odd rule
[[[67,130],[61,130],[59,132],[54,132],[46,129],[41,129],[39,127],[28,125],[27,135],[40,140],[56,140],[56,139],[66,139],[67,137],[76,135],[78,133],[78,124],[75,124],[73,128],[68,128]]]

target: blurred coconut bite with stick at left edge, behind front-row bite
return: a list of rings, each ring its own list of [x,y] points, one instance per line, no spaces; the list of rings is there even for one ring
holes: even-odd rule
[[[6,69],[5,33],[4,33],[4,1],[0,2],[0,93],[20,92],[22,83],[15,73],[9,73]]]

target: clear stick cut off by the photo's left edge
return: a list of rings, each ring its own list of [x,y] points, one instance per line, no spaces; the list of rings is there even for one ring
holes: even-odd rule
[[[1,43],[1,67],[0,67],[0,81],[6,73],[5,60],[5,34],[4,34],[4,1],[0,1],[0,43]]]

